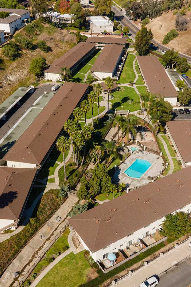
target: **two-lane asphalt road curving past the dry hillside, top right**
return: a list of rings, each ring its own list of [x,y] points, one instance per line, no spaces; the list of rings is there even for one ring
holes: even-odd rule
[[[115,19],[117,21],[119,21],[123,26],[128,26],[131,34],[133,34],[135,36],[136,33],[139,31],[139,28],[135,24],[133,24],[132,21],[129,20],[129,18],[123,13],[123,11],[120,11],[116,6],[115,7],[112,6],[111,10],[114,11],[114,9],[115,9]],[[170,48],[160,44],[155,39],[153,39],[151,41],[151,43],[153,43],[156,47],[158,47],[158,49],[160,51],[168,51],[168,50],[170,50]],[[178,55],[179,55],[179,57],[186,58],[188,63],[191,64],[191,57],[190,56],[184,55],[182,53],[178,53]]]

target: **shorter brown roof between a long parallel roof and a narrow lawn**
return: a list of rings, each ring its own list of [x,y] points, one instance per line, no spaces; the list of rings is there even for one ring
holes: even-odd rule
[[[123,47],[121,45],[105,45],[94,65],[91,67],[91,71],[113,72],[122,51]]]

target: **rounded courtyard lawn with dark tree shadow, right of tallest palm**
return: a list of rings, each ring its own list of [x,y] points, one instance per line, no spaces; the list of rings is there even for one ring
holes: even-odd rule
[[[133,88],[122,87],[122,91],[113,92],[114,99],[110,102],[112,103],[112,109],[118,110],[130,110],[133,112],[135,110],[140,110],[140,99]],[[129,101],[133,101],[130,103]]]

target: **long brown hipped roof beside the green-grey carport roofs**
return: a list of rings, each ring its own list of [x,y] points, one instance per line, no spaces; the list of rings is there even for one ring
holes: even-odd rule
[[[39,165],[87,89],[88,84],[66,82],[3,159]]]

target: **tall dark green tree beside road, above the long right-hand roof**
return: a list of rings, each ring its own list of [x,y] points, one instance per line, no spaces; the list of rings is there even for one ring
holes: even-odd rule
[[[149,45],[152,38],[153,34],[151,29],[147,31],[147,28],[143,27],[139,32],[137,32],[135,36],[135,49],[139,55],[143,56],[149,53]]]

